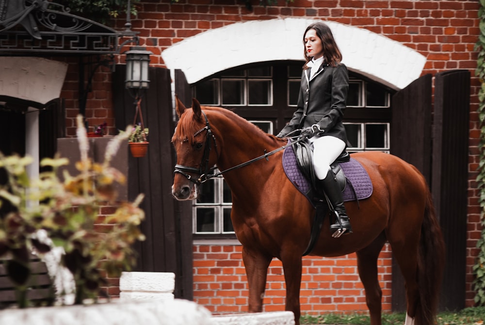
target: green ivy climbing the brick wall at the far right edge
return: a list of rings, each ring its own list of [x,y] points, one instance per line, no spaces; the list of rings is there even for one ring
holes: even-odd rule
[[[475,290],[475,303],[477,306],[485,306],[485,0],[480,0],[480,9],[478,10],[478,17],[480,18],[480,35],[475,44],[475,50],[478,52],[477,69],[475,75],[481,82],[481,87],[478,92],[478,99],[480,101],[478,106],[478,115],[480,120],[480,143],[478,149],[480,151],[480,163],[478,166],[477,188],[480,191],[478,201],[481,208],[481,224],[482,234],[480,240],[477,242],[479,253],[475,265],[473,266],[473,289]]]

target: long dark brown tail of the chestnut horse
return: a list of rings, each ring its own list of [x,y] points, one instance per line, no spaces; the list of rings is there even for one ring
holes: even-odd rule
[[[416,306],[415,323],[431,325],[434,324],[438,309],[439,290],[445,264],[445,243],[429,190],[427,190],[418,250],[420,299]]]

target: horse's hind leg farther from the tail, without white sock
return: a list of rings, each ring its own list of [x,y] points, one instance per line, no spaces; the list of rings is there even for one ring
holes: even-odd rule
[[[360,280],[365,288],[367,307],[371,316],[371,325],[381,325],[382,290],[377,274],[377,259],[386,237],[381,233],[369,246],[356,252]]]

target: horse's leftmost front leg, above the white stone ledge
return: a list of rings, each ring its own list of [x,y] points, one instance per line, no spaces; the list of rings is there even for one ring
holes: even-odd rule
[[[266,288],[266,275],[272,257],[261,252],[242,247],[242,260],[246,269],[249,283],[249,312],[261,312],[263,310],[263,296]]]

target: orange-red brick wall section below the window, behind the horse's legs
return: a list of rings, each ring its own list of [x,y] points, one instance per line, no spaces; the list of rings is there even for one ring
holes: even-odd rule
[[[247,311],[248,285],[241,245],[194,245],[194,301],[213,313]],[[391,252],[384,246],[378,260],[383,311],[391,310]],[[285,310],[285,280],[280,260],[267,276],[264,311]],[[355,254],[339,258],[303,258],[302,313],[367,311]]]

